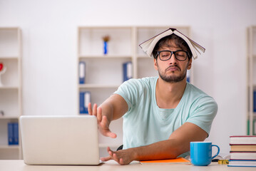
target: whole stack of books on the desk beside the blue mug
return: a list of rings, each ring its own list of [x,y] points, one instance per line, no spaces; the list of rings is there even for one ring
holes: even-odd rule
[[[230,162],[227,166],[256,167],[256,136],[230,136]]]

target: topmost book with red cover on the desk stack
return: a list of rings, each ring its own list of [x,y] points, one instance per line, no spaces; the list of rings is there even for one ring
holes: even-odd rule
[[[230,145],[256,145],[256,135],[230,136]]]

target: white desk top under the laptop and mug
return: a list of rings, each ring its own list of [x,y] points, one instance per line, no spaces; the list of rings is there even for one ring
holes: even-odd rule
[[[140,165],[138,162],[132,162],[130,165],[118,165],[114,161],[108,161],[98,166],[85,165],[26,165],[23,160],[0,160],[1,171],[235,171],[235,170],[256,170],[255,167],[227,167],[227,165],[218,165],[212,162],[208,166],[193,165]]]

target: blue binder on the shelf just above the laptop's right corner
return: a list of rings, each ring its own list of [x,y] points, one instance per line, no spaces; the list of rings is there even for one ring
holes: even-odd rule
[[[88,114],[88,103],[91,102],[91,92],[81,91],[79,93],[79,113]]]

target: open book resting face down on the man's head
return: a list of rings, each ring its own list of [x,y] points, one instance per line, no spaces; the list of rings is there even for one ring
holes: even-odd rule
[[[188,43],[188,46],[190,47],[190,51],[192,52],[193,58],[198,58],[198,54],[195,51],[205,52],[205,48],[203,46],[200,46],[198,43],[195,43],[191,38],[188,38],[183,33],[178,31],[176,28],[168,28],[166,31],[163,31],[162,33],[159,33],[156,36],[153,36],[153,38],[148,39],[148,41],[144,41],[143,43],[140,43],[140,48],[150,57],[153,57],[153,49],[155,48],[155,44],[158,43],[158,41],[165,37],[169,36],[171,34],[175,34],[179,36],[180,38],[183,38],[183,40]]]

